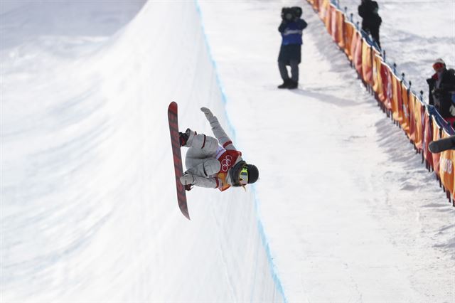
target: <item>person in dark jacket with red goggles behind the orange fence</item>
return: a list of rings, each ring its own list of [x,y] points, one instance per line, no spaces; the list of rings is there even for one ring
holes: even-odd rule
[[[454,70],[448,70],[441,58],[434,61],[433,69],[434,75],[427,79],[429,104],[434,105],[443,118],[454,118],[455,105],[451,101],[452,94],[455,92]]]

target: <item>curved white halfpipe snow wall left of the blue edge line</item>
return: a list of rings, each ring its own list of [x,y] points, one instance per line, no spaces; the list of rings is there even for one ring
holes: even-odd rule
[[[234,136],[197,3],[71,39],[2,53],[1,301],[285,301],[252,188],[194,188],[192,220],[178,210],[168,103],[181,129],[211,134],[207,106]]]

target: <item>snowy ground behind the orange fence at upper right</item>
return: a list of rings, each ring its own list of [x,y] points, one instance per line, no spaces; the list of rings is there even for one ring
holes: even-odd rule
[[[353,21],[361,24],[357,14],[358,0],[339,0],[341,9],[353,14]],[[415,92],[424,91],[428,98],[425,79],[433,75],[432,65],[442,58],[449,68],[455,68],[455,1],[453,0],[385,0],[378,1],[381,46],[387,63],[396,63],[397,71],[412,81]]]

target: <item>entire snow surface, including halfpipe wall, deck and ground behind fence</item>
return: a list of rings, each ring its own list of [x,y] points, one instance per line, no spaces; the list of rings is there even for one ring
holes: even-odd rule
[[[293,5],[301,85],[277,90]],[[453,66],[453,1],[380,14],[417,90]],[[2,0],[0,39],[1,302],[455,302],[454,208],[306,1]],[[191,221],[171,100],[260,171],[188,192]]]

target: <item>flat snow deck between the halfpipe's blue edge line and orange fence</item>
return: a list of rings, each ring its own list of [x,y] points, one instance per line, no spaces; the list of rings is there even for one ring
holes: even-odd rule
[[[289,302],[453,301],[454,210],[309,5],[301,87],[282,91],[279,11],[302,2],[201,4]]]

